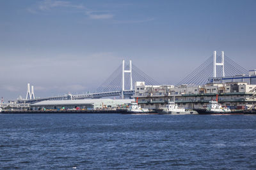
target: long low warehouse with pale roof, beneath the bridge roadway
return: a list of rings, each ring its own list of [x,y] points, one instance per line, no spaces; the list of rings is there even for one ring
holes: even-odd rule
[[[113,109],[130,104],[134,99],[77,99],[59,101],[41,101],[31,104],[32,110],[98,110]]]

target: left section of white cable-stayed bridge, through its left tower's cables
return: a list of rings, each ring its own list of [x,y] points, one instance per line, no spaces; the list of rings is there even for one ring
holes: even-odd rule
[[[93,93],[86,94],[66,94],[64,96],[53,97],[41,97],[35,98],[35,94],[32,90],[30,92],[29,83],[26,99],[19,99],[19,103],[36,103],[39,101],[47,100],[68,100],[68,99],[98,99],[101,97],[113,97],[120,96],[122,99],[127,97],[131,98],[134,94],[134,83],[136,81],[145,81],[147,85],[158,85],[159,83],[150,78],[146,73],[141,71],[138,67],[132,64],[129,60],[129,64],[125,64],[125,60],[117,69],[100,85],[100,87]],[[33,89],[33,88],[32,88]],[[33,95],[31,95],[33,94]],[[34,96],[34,97],[33,97]]]

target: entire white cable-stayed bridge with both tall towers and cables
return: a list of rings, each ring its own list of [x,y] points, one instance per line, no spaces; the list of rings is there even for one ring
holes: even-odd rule
[[[209,78],[234,76],[234,75],[248,74],[248,71],[243,67],[239,66],[232,59],[224,55],[217,55],[214,51],[213,55],[207,58],[200,66],[196,67],[188,76],[181,80],[177,85],[204,85],[207,83]],[[171,75],[172,76],[172,75]],[[172,78],[172,77],[170,77]],[[38,101],[45,100],[68,100],[68,99],[95,99],[100,97],[112,97],[120,96],[122,99],[125,97],[132,97],[134,94],[134,83],[136,81],[145,81],[146,85],[159,85],[157,81],[150,78],[146,73],[141,71],[138,67],[129,61],[129,64],[125,64],[125,60],[117,69],[100,85],[100,87],[93,93],[87,94],[67,94],[64,96],[55,97],[43,97],[35,99],[34,96],[31,98],[29,85],[26,99],[18,100],[19,103],[36,103]],[[28,98],[30,96],[30,98]]]

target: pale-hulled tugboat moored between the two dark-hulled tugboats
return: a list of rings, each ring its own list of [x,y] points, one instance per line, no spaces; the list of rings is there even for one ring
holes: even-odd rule
[[[179,108],[175,103],[175,97],[172,102],[166,104],[165,108],[157,110],[159,114],[171,114],[171,115],[189,115],[195,113],[194,111],[186,111],[185,108]]]

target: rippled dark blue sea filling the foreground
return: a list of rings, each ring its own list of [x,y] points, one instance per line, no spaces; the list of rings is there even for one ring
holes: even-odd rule
[[[256,115],[0,115],[0,169],[256,169]]]

